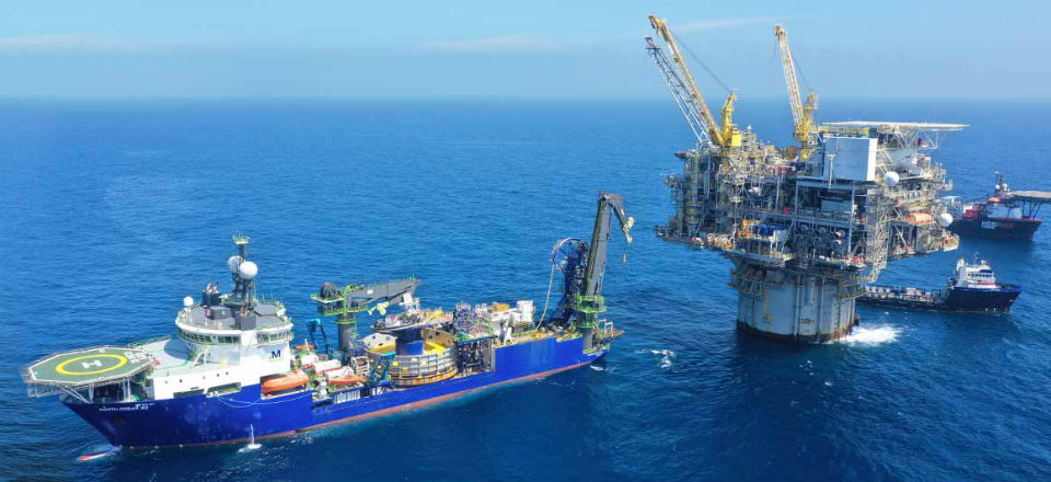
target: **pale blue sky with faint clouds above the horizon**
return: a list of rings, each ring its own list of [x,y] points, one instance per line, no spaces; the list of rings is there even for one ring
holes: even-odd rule
[[[1049,2],[790,3],[19,2],[0,96],[663,96],[652,12],[741,95],[782,95],[781,22],[824,96],[1051,97]]]

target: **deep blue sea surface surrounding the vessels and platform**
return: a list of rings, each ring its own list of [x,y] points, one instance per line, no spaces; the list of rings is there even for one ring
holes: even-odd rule
[[[936,156],[955,194],[990,192],[995,170],[1051,190],[1049,104],[823,101],[822,119],[970,124]],[[744,99],[737,120],[787,142],[786,104]],[[672,213],[662,174],[691,145],[665,99],[4,101],[0,479],[1051,480],[1051,227],[880,279],[940,288],[977,252],[1025,286],[1008,315],[862,307],[843,341],[757,340],[735,330],[729,262],[654,236]],[[299,321],[324,280],[415,275],[428,306],[542,305],[552,244],[590,236],[601,190],[637,228],[610,245],[608,317],[627,334],[599,367],[251,452],[91,462],[76,459],[104,438],[19,376],[51,352],[173,333],[184,296],[229,289],[239,232],[261,294]]]

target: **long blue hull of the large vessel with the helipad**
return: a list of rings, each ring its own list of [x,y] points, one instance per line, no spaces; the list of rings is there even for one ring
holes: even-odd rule
[[[201,445],[291,435],[369,415],[440,402],[472,390],[543,377],[591,364],[607,351],[584,353],[582,340],[545,337],[498,347],[493,370],[344,403],[315,402],[311,392],[263,399],[259,386],[231,394],[127,403],[70,403],[73,412],[122,447]]]

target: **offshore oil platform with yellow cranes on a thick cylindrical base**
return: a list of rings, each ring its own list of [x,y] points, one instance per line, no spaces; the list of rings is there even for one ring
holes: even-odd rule
[[[708,108],[668,24],[649,16],[668,50],[646,50],[696,137],[667,175],[675,213],[657,234],[730,260],[740,330],[793,342],[843,336],[857,323],[862,283],[887,262],[950,251],[959,238],[940,194],[952,188],[931,154],[961,124],[815,120],[804,101],[787,33],[775,26],[798,145],[774,147]]]

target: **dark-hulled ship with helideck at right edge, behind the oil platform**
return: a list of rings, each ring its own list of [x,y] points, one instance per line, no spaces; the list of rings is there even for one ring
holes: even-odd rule
[[[1004,175],[996,173],[993,194],[970,203],[957,196],[946,200],[956,215],[949,229],[963,236],[1002,240],[1032,241],[1043,222],[1037,215],[1040,207],[1051,203],[1051,192],[1012,191]]]

